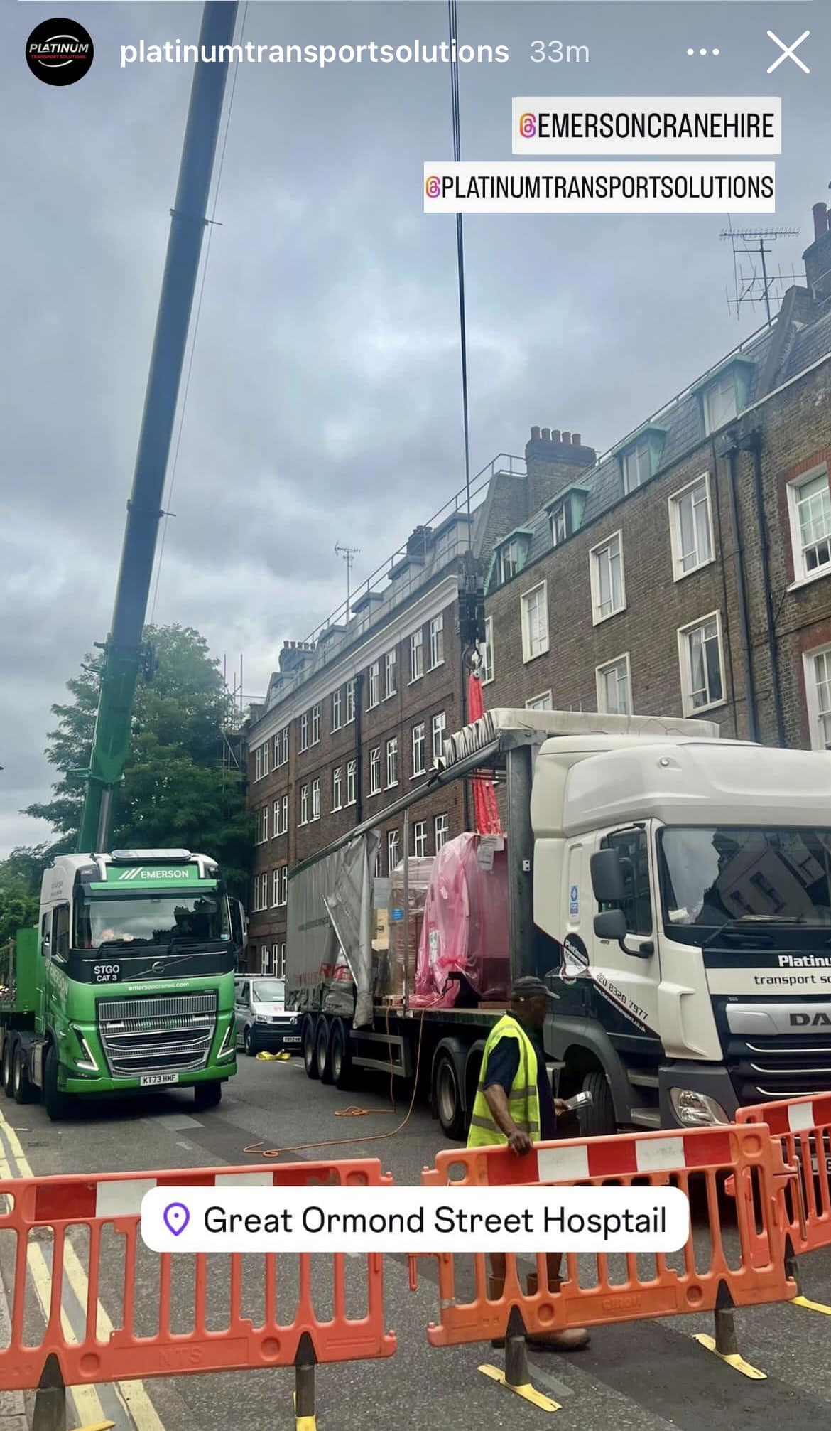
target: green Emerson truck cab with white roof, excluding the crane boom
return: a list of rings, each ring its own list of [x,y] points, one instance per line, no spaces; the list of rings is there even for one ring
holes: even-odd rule
[[[189,850],[66,854],[40,924],[0,950],[0,1078],[56,1120],[76,1098],[193,1088],[215,1108],[236,1073],[240,914]]]

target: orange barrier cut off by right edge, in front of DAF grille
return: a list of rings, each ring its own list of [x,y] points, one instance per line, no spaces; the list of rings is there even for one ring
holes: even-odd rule
[[[782,1156],[798,1169],[798,1186],[781,1193],[782,1224],[794,1252],[831,1245],[831,1093],[739,1108],[737,1123],[767,1123]]]

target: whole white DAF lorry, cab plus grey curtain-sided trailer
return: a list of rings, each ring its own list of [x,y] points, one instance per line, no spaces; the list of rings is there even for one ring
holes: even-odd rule
[[[289,1005],[310,1079],[412,1078],[421,1043],[433,1113],[465,1136],[505,1005],[466,987],[431,1007],[406,972],[378,997],[375,827],[403,813],[406,851],[410,807],[486,774],[508,863],[503,985],[536,975],[554,993],[546,1053],[561,1096],[592,1093],[584,1132],[722,1123],[831,1088],[830,753],[722,740],[695,718],[525,710],[486,713],[445,751],[416,791],[292,871]]]

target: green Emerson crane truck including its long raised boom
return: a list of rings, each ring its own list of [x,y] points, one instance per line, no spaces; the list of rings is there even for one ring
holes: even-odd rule
[[[236,13],[237,0],[206,0],[202,53],[222,53]],[[39,927],[0,950],[3,1086],[20,1103],[41,1093],[53,1119],[76,1096],[163,1085],[193,1086],[197,1106],[210,1108],[236,1072],[243,920],[216,863],[189,850],[102,853],[136,681],[154,667],[144,617],[227,69],[199,64],[193,74],[90,763],[76,771],[86,781],[77,853],[46,870]]]

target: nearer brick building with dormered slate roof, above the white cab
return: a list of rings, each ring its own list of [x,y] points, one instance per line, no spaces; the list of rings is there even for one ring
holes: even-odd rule
[[[496,542],[486,705],[831,744],[831,228],[808,288]],[[528,471],[569,434],[533,428]]]

